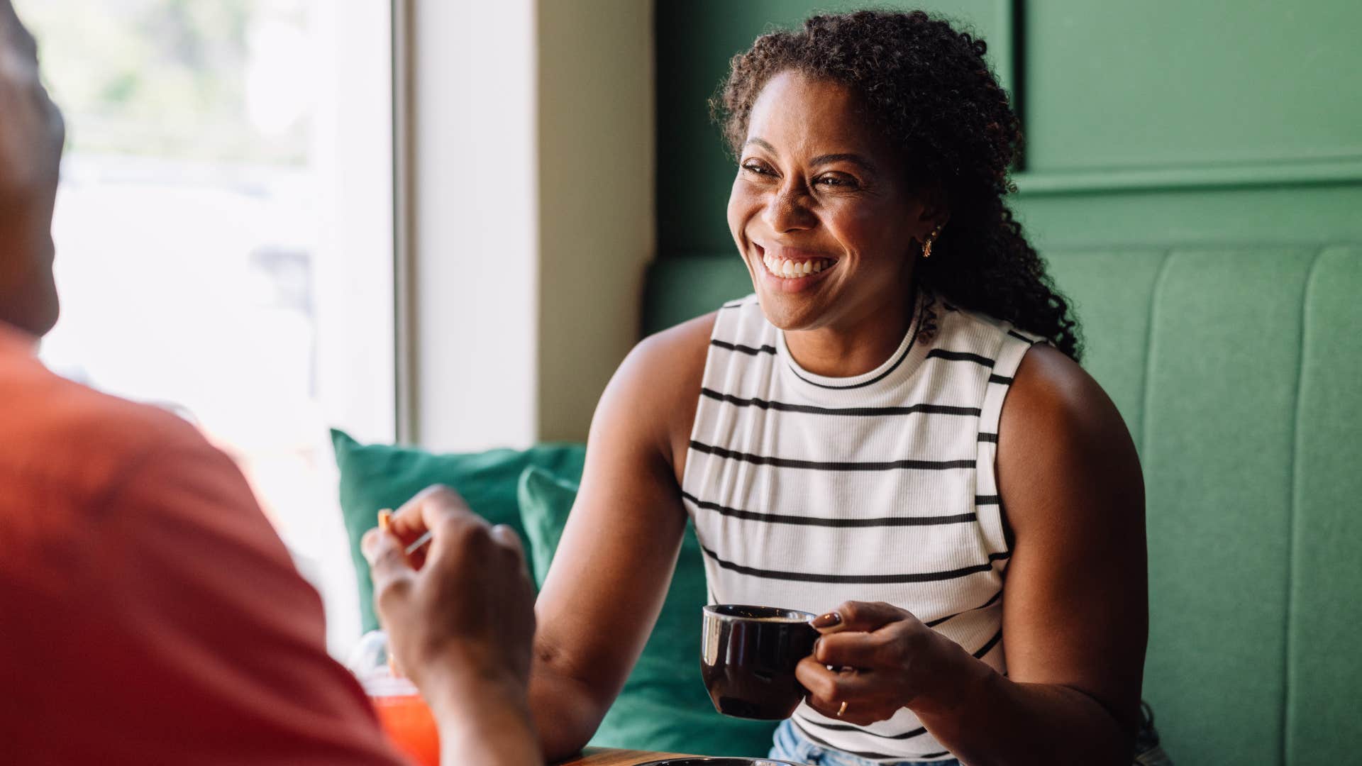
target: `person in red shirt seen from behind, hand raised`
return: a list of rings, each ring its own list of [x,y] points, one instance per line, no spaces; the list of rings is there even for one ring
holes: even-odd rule
[[[0,0],[0,762],[399,763],[236,466],[176,416],[34,357],[57,319],[61,144],[34,41]],[[537,763],[513,533],[436,489],[365,549],[444,762]]]

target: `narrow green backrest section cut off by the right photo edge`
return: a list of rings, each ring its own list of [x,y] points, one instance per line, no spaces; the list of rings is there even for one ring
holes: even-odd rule
[[[1306,294],[1286,741],[1290,763],[1350,763],[1362,743],[1362,248],[1321,252]]]

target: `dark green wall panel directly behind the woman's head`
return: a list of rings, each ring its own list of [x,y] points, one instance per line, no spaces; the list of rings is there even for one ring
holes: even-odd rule
[[[729,252],[725,209],[735,165],[710,121],[708,99],[729,60],[775,26],[795,27],[814,11],[868,5],[925,8],[972,26],[990,60],[1011,79],[1009,0],[855,3],[847,0],[658,0],[658,251]]]

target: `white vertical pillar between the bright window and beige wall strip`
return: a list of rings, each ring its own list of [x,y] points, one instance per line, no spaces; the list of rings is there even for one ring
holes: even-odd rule
[[[553,0],[546,0],[546,4]],[[403,436],[538,433],[538,0],[405,0]]]

